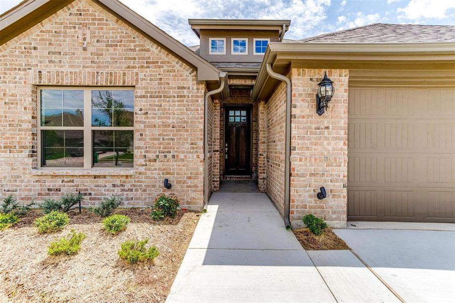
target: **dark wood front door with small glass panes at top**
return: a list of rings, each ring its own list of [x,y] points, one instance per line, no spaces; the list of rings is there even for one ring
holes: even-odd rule
[[[224,138],[224,174],[251,174],[251,108],[226,106]]]

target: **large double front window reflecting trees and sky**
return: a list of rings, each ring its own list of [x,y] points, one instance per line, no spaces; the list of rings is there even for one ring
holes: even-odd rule
[[[39,89],[40,167],[133,167],[134,90]]]

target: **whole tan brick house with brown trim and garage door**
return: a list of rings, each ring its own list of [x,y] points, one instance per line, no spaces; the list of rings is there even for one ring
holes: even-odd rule
[[[212,192],[236,179],[256,182],[292,226],[308,213],[331,226],[455,220],[452,27],[421,26],[422,41],[408,34],[412,25],[384,24],[286,41],[289,20],[191,19],[201,45],[188,48],[117,0],[43,0],[46,14],[27,8],[34,1],[0,16],[2,197],[41,201],[80,191],[93,205],[121,194],[134,207],[150,205],[164,191],[176,193],[183,208],[202,210]],[[226,52],[234,37],[249,41],[243,57]],[[222,45],[225,54],[209,51],[213,39],[222,41],[214,50]],[[266,46],[253,51],[257,40]],[[290,95],[267,66],[289,79]],[[335,93],[319,116],[316,94],[325,72]],[[132,167],[92,167],[97,156],[88,139],[84,167],[42,167],[40,91],[59,88],[134,91]],[[395,106],[400,102],[407,106]],[[89,103],[85,111],[92,110]],[[226,121],[226,109],[236,106]],[[415,112],[403,109],[412,106]],[[86,120],[84,136],[91,138],[103,126]],[[226,125],[242,130],[243,122],[249,133],[240,141],[247,139],[242,148],[250,159],[229,174]],[[430,135],[436,130],[440,136]],[[247,158],[242,153],[237,162]],[[322,186],[327,197],[318,199]]]

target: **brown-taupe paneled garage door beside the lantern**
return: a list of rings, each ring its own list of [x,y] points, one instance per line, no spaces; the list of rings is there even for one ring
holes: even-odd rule
[[[348,220],[455,222],[455,88],[349,86]]]

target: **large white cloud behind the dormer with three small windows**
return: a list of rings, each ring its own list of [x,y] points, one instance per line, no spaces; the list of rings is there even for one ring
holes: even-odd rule
[[[331,4],[330,0],[121,1],[186,45],[199,43],[188,25],[190,18],[290,19],[292,23],[286,38],[305,38],[320,30]]]

